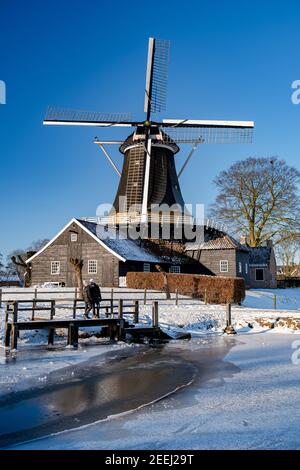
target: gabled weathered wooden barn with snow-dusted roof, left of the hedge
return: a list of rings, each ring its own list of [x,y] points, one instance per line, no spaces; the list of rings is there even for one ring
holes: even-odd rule
[[[104,225],[72,219],[46,246],[31,256],[31,284],[55,283],[76,286],[70,258],[83,261],[83,280],[93,278],[101,286],[124,286],[129,271],[151,272],[162,269],[175,273],[207,273],[205,268],[180,253],[164,256],[141,240],[125,237]]]

